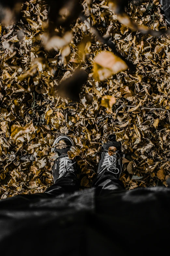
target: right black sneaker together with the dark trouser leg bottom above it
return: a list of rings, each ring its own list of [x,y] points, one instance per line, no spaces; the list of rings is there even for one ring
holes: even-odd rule
[[[111,141],[102,147],[98,175],[92,183],[92,186],[96,187],[96,196],[105,196],[124,189],[123,183],[119,180],[123,157],[121,143],[116,142],[114,136],[110,136],[109,140]]]

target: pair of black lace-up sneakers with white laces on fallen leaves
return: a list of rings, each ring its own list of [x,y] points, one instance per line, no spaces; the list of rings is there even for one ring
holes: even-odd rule
[[[104,143],[102,146],[97,173],[101,174],[104,171],[108,171],[119,179],[123,157],[121,143],[116,141],[114,135],[110,135],[108,141],[108,143]],[[52,168],[54,182],[68,173],[72,173],[77,178],[78,168],[75,158],[71,160],[68,156],[71,146],[74,146],[74,142],[68,136],[59,136],[52,145],[51,152],[56,152],[59,156],[54,161]]]

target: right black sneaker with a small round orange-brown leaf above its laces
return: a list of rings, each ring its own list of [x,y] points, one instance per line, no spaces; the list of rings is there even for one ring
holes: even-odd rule
[[[104,143],[102,146],[102,154],[97,170],[98,174],[104,171],[108,171],[116,178],[120,178],[122,170],[122,157],[124,155],[121,152],[121,142],[117,142],[115,135],[110,135],[108,143]]]

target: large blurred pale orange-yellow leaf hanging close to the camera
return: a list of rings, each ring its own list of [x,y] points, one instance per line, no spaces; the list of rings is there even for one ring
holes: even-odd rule
[[[127,68],[123,60],[109,51],[98,53],[94,59],[94,77],[99,80],[104,80]]]

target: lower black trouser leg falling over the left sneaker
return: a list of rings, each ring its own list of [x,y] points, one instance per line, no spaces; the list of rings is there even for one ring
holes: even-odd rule
[[[72,173],[56,180],[56,182],[50,186],[45,192],[51,195],[60,195],[67,192],[74,192],[78,190],[78,179]]]

